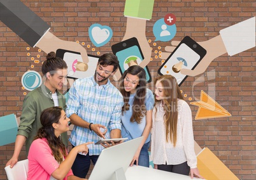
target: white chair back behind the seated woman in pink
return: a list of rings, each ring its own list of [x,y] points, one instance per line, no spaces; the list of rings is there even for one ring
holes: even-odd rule
[[[27,172],[29,171],[29,160],[20,160],[10,168],[10,165],[4,167],[9,180],[27,180]]]

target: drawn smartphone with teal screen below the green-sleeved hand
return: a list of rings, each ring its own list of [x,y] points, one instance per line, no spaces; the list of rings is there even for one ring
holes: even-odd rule
[[[136,37],[118,42],[111,46],[111,49],[113,54],[116,55],[119,60],[119,69],[121,74],[124,74],[124,71],[130,66],[139,65],[139,63],[144,59]],[[149,83],[152,80],[150,72],[147,66],[144,69],[146,71],[146,82]]]

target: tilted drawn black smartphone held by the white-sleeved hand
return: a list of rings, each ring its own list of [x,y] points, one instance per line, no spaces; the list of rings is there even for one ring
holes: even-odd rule
[[[188,76],[181,74],[180,69],[188,68],[193,70],[205,55],[206,50],[196,41],[186,36],[160,66],[158,73],[160,75],[173,75],[178,85],[181,86]]]

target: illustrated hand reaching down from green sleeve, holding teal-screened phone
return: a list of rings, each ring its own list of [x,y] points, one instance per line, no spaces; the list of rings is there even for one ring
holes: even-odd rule
[[[139,18],[127,17],[125,35],[122,41],[136,37],[139,42],[139,46],[144,56],[144,60],[139,63],[139,66],[145,68],[150,62],[152,50],[146,39],[146,20]],[[118,69],[113,76],[114,80],[118,80],[121,77],[120,70]]]

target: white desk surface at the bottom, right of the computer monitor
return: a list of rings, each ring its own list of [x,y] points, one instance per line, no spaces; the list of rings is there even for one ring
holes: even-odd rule
[[[125,172],[125,176],[127,180],[170,180],[170,179],[179,179],[179,180],[188,180],[190,176],[185,176],[181,174],[176,174],[173,172],[166,172],[164,170],[157,170],[148,167],[142,166],[132,166],[128,167],[127,171]],[[194,177],[194,179],[199,179]]]

